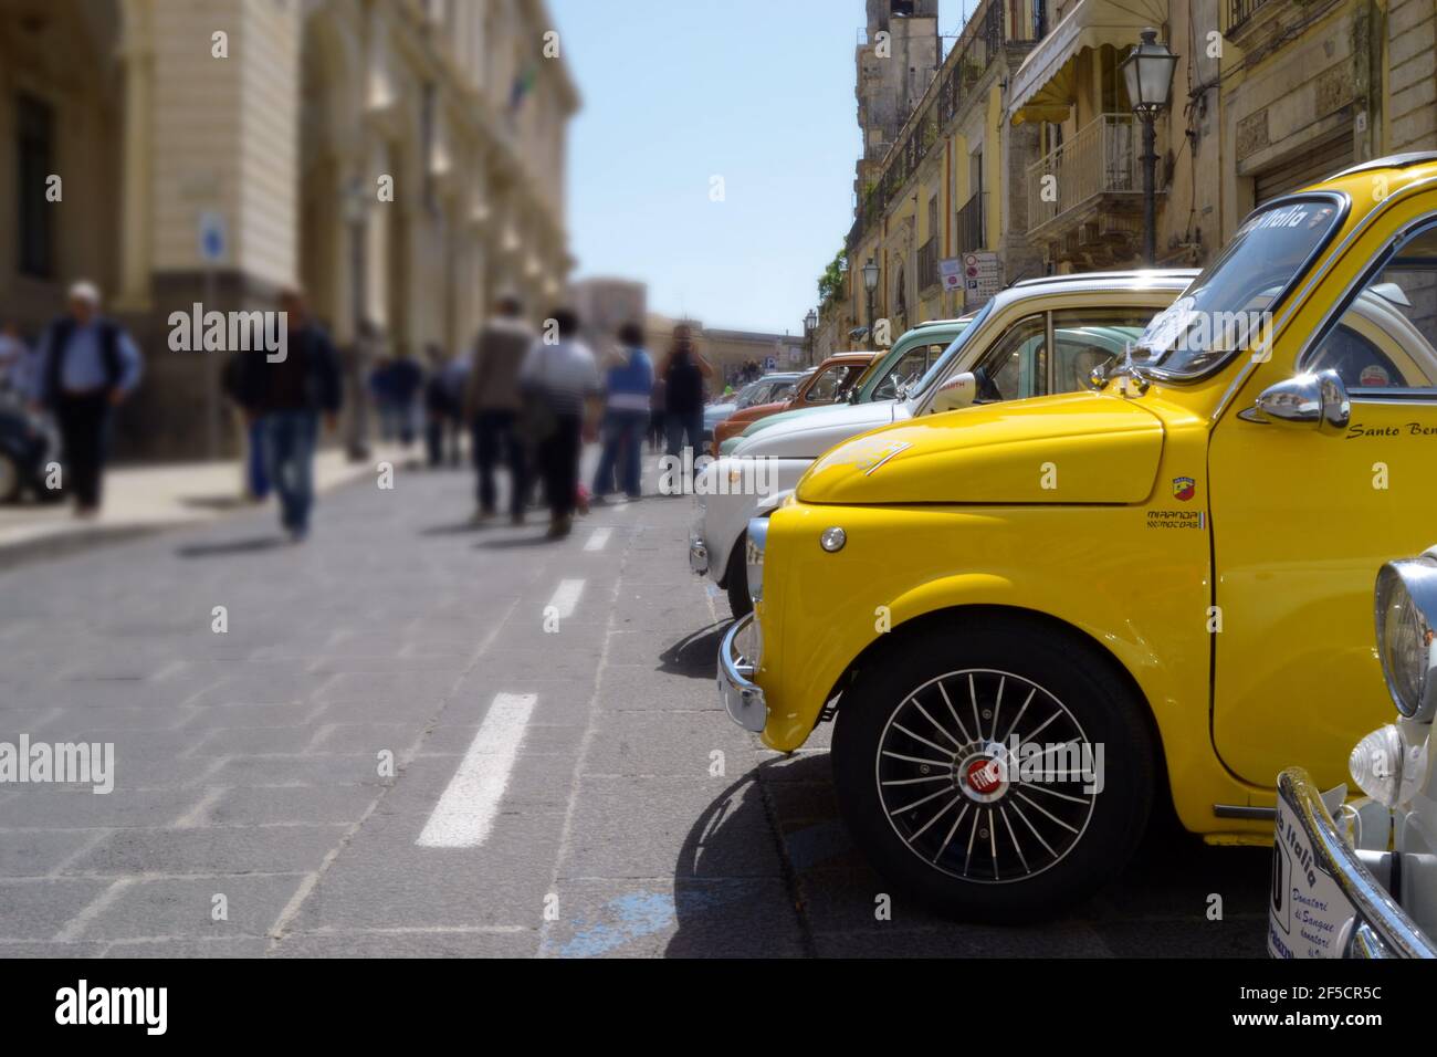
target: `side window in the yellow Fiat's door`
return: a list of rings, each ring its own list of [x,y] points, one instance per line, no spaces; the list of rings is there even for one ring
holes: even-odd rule
[[[1437,223],[1397,246],[1299,362],[1349,390],[1437,388]]]

